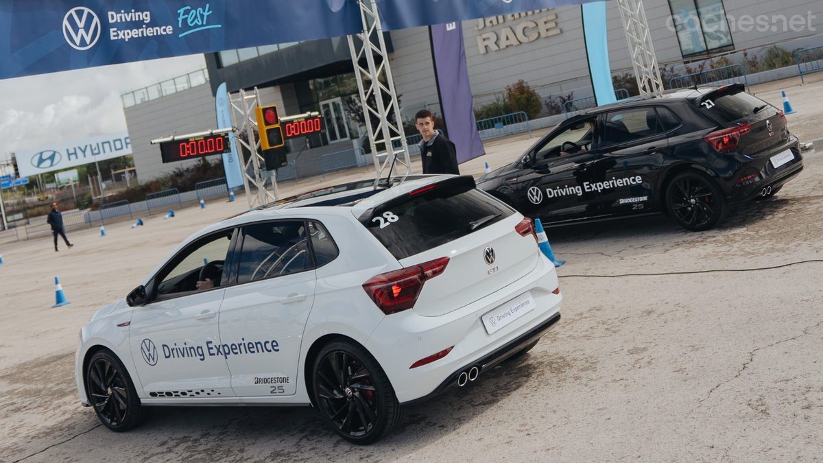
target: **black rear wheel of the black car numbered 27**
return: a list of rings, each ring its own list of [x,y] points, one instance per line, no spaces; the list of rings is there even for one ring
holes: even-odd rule
[[[695,232],[709,230],[728,213],[728,201],[717,183],[696,171],[672,179],[666,189],[666,204],[681,227]]]

